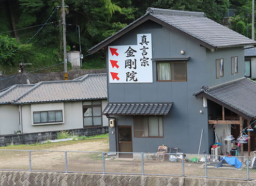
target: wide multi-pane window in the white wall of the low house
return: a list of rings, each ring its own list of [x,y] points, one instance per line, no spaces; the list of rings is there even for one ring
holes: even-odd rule
[[[62,110],[33,112],[33,123],[58,123],[63,121]]]

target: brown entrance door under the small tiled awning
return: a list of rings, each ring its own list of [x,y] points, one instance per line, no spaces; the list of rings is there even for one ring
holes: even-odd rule
[[[118,126],[118,152],[132,152],[131,126]],[[119,156],[130,158],[132,154],[120,153]]]

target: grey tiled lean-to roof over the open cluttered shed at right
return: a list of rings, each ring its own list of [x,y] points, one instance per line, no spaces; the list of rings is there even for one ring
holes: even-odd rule
[[[246,119],[256,118],[256,82],[238,79],[212,88],[202,86],[195,97],[206,97]]]

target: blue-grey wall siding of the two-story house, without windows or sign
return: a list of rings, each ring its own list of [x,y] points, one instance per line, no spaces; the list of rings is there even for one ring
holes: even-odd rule
[[[200,153],[209,153],[214,143],[213,130],[208,131],[207,108],[203,99],[196,99],[193,93],[202,85],[217,85],[244,76],[243,47],[220,49],[210,52],[191,38],[176,33],[164,26],[148,28],[146,22],[115,40],[110,45],[137,44],[137,34],[152,34],[153,58],[189,57],[187,61],[187,82],[157,82],[156,62],[153,61],[153,83],[108,83],[108,102],[173,102],[168,116],[163,117],[163,138],[134,137],[134,152],[156,152],[159,145],[177,147],[179,152],[198,153],[201,130],[203,138]],[[185,55],[180,51],[184,50]],[[238,56],[238,74],[231,75],[231,57]],[[216,62],[224,58],[224,77],[216,79]],[[106,57],[108,61],[108,56]],[[108,65],[108,63],[107,63]],[[108,67],[107,67],[108,68]],[[230,71],[230,72],[229,72]],[[199,111],[202,110],[203,114]],[[132,116],[117,116],[117,125],[133,126]],[[110,151],[117,151],[115,134],[110,129]],[[132,127],[133,133],[133,127]]]

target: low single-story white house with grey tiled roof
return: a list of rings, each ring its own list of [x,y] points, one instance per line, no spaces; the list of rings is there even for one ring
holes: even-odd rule
[[[13,85],[0,92],[0,135],[107,126],[107,75]]]

